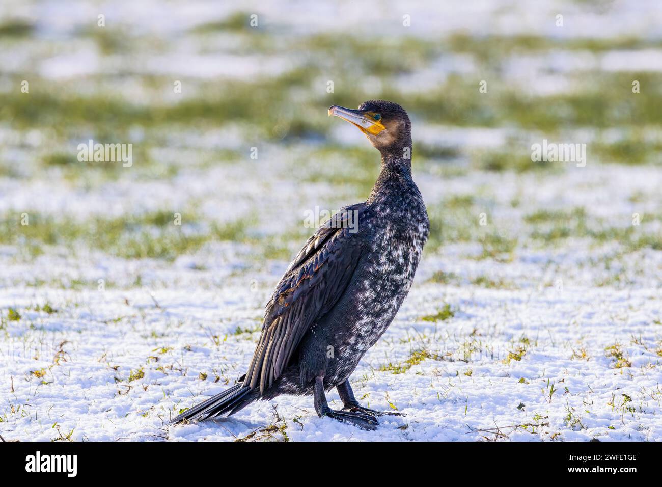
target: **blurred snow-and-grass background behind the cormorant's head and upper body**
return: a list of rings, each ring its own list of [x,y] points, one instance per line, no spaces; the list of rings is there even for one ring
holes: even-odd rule
[[[99,252],[202,268],[197,252],[226,241],[246,244],[246,265],[288,260],[306,210],[367,197],[377,153],[326,108],[373,98],[412,117],[435,270],[454,266],[444,256],[480,268],[579,239],[602,259],[592,284],[622,284],[639,278],[600,272],[614,250],[662,248],[655,1],[268,4],[3,2],[3,284],[95,281],[83,268]],[[587,144],[587,166],[533,162],[544,138]],[[79,162],[89,139],[133,144],[134,163]],[[21,213],[39,225],[17,227]],[[483,272],[456,270],[443,279]]]

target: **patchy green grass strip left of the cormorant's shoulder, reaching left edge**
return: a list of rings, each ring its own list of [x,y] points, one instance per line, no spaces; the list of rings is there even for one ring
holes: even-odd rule
[[[19,246],[26,257],[38,256],[48,246],[66,246],[74,252],[82,245],[120,258],[171,261],[207,243],[230,241],[253,246],[252,254],[259,261],[289,260],[312,233],[312,229],[297,225],[265,239],[256,231],[258,220],[254,217],[209,223],[195,210],[181,211],[181,226],[174,223],[175,211],[167,210],[83,220],[26,213],[29,225],[21,225],[20,215],[0,217],[0,244]]]

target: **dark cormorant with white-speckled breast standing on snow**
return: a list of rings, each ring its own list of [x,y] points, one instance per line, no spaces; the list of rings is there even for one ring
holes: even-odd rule
[[[387,414],[360,406],[349,378],[393,321],[428,238],[428,213],[411,174],[411,124],[390,101],[366,101],[357,110],[333,105],[328,114],[361,129],[381,152],[374,188],[365,203],[320,226],[287,268],[267,303],[248,372],[170,423],[231,415],[281,394],[312,394],[320,417],[363,429],[375,429],[375,416]],[[326,402],[324,392],[334,387],[341,411]]]

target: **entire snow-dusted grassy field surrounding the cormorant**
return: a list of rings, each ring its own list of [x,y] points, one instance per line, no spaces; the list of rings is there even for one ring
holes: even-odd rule
[[[662,96],[645,82],[661,66],[662,11],[387,3],[3,3],[4,439],[662,439],[662,141],[646,118]],[[247,34],[254,10],[263,30]],[[99,13],[110,34],[94,30]],[[396,30],[403,15],[412,27]],[[366,25],[386,37],[379,52],[348,50]],[[480,98],[483,79],[496,97]],[[603,93],[605,115],[591,85],[612,81],[624,91]],[[432,220],[410,295],[351,378],[359,401],[404,416],[361,431],[283,396],[169,427],[244,373],[308,215],[367,196],[377,152],[326,117],[354,89],[395,89],[410,109]],[[549,104],[551,122],[479,123],[504,93]],[[622,115],[632,106],[641,120]],[[594,124],[573,107],[596,110]],[[77,162],[89,138],[133,143],[134,164]],[[586,166],[529,164],[544,138],[587,143]]]

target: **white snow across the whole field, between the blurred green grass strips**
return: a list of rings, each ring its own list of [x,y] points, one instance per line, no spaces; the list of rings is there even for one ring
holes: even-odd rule
[[[263,32],[285,39],[356,32],[371,23],[401,28],[405,14],[411,15],[414,27],[403,28],[402,36],[426,40],[457,32],[575,39],[636,34],[654,40],[662,35],[657,0],[614,1],[604,15],[569,1],[552,6],[526,2],[526,7],[506,0],[414,1],[406,11],[395,0],[383,2],[380,9],[354,1],[337,4],[307,3],[303,9],[301,3],[284,0],[247,2],[242,12],[257,11]],[[28,19],[36,32],[29,41],[11,41],[11,48],[0,49],[0,64],[7,76],[22,79],[24,72],[34,72],[48,83],[69,81],[93,94],[112,90],[136,103],[177,103],[179,98],[171,93],[170,81],[167,89],[155,89],[128,74],[177,79],[185,71],[181,96],[194,98],[199,93],[190,87],[197,81],[255,81],[307,67],[309,59],[303,54],[246,54],[244,39],[232,32],[206,38],[189,32],[231,15],[234,7],[229,3],[213,15],[209,3],[198,0],[174,8],[154,0],[115,2],[112,8],[105,2],[72,1],[65,7],[53,1],[5,1],[0,17]],[[554,25],[559,11],[565,16],[564,28]],[[107,25],[162,42],[154,47],[133,39],[134,50],[105,55],[93,40],[76,37],[102,12]],[[302,45],[302,52],[305,49]],[[506,54],[500,68],[504,83],[543,96],[575,89],[577,80],[589,78],[592,70],[659,72],[660,58],[659,48],[514,52]],[[479,66],[471,54],[449,52],[392,81],[412,96],[436,89],[448,76],[465,76],[477,87],[483,79]],[[126,76],[108,76],[116,71]],[[311,90],[328,94],[326,72],[320,73]],[[13,81],[0,78],[0,89],[15,89]],[[387,81],[379,76],[355,80],[366,91],[379,91]],[[30,83],[34,93],[38,83]],[[630,85],[624,89],[630,95]],[[326,113],[322,110],[319,117],[324,119]],[[269,253],[269,244],[282,238],[294,253],[305,236],[283,233],[301,230],[307,211],[337,209],[367,196],[357,194],[352,184],[342,184],[344,176],[358,171],[345,154],[367,148],[365,138],[348,124],[328,123],[326,142],[333,145],[326,155],[314,152],[309,140],[256,140],[254,127],[239,121],[209,129],[167,127],[164,133],[157,128],[156,137],[136,127],[126,142],[138,144],[148,136],[154,137],[152,144],[155,138],[164,140],[149,149],[158,167],[136,160],[130,170],[120,168],[112,177],[89,178],[84,184],[66,169],[44,168],[41,162],[42,151],[48,150],[75,158],[77,140],[65,146],[49,127],[0,125],[0,215],[13,223],[24,211],[71,221],[180,212],[183,231],[188,232],[212,223],[252,222],[249,243],[212,239],[171,261],[125,259],[85,241],[43,245],[36,254],[20,244],[0,244],[3,437],[662,439],[662,250],[641,246],[626,252],[624,242],[587,235],[544,243],[532,237],[538,227],[526,222],[537,211],[583,209],[587,227],[597,233],[602,228],[628,229],[637,213],[642,220],[636,235],[659,238],[659,166],[598,160],[592,143],[620,140],[622,127],[585,127],[550,136],[509,125],[449,127],[416,118],[415,143],[454,148],[457,157],[451,162],[422,161],[414,150],[414,178],[428,209],[449,215],[469,237],[424,250],[395,321],[350,378],[362,404],[404,415],[381,417],[377,431],[362,431],[317,417],[310,397],[282,396],[219,421],[168,426],[167,420],[181,409],[221,392],[245,372],[264,305],[288,264],[287,258]],[[638,135],[659,141],[657,127],[641,127]],[[543,138],[586,142],[587,166],[569,163],[559,171],[522,174],[471,168],[475,150],[528,154],[531,144]],[[258,142],[260,158],[248,160],[249,148]],[[226,149],[246,158],[223,160],[214,153]],[[374,156],[376,176],[376,152]],[[175,171],[167,176],[170,168]],[[449,201],[467,196],[473,198],[471,204],[453,213]],[[485,227],[479,225],[481,213],[487,215]],[[202,223],[190,223],[191,215]],[[544,225],[547,229],[553,223]],[[482,239],[491,235],[515,237],[512,252],[483,258]],[[435,278],[440,271],[451,276],[448,282]],[[46,303],[53,312],[44,311]],[[453,315],[430,321],[429,315],[447,304]],[[10,319],[10,313],[20,318]],[[412,360],[422,351],[424,358]],[[328,399],[331,407],[341,407],[335,391]],[[275,429],[264,431],[269,425]]]

